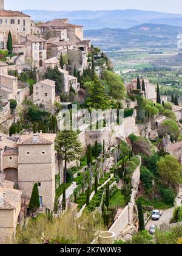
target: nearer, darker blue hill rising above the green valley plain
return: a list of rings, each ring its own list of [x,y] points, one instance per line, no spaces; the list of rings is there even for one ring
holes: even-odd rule
[[[177,47],[179,33],[182,33],[182,27],[144,23],[129,29],[86,30],[84,36],[106,51],[122,47]]]

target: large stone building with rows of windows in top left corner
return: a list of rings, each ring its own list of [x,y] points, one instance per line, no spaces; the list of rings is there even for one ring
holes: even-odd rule
[[[18,42],[20,33],[30,35],[30,16],[19,11],[4,10],[4,0],[1,0],[0,34],[1,48],[6,48],[8,32],[11,31],[13,43]],[[3,47],[2,47],[3,46]]]

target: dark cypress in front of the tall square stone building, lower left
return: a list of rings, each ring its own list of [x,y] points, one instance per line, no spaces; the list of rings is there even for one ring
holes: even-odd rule
[[[40,207],[39,201],[39,190],[38,190],[38,183],[35,183],[32,190],[32,195],[30,197],[29,202],[29,210],[32,212],[32,216],[36,213],[37,209]]]

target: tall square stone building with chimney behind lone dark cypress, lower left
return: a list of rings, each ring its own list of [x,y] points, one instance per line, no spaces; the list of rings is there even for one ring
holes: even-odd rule
[[[42,211],[53,210],[55,201],[55,138],[56,134],[22,135],[18,140],[18,185],[31,196],[38,183]]]

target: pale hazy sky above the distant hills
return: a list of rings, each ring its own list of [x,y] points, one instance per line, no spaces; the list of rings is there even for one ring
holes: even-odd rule
[[[114,10],[141,9],[182,13],[181,0],[5,0],[7,10]]]

